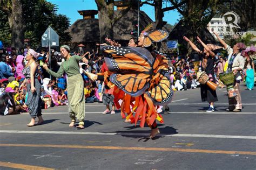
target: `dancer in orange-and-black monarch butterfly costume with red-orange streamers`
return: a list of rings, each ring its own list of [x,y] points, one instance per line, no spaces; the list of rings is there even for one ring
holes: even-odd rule
[[[152,41],[163,41],[169,33],[163,30],[150,31],[151,28],[152,25],[147,26],[140,34],[139,47],[101,45],[100,49],[106,54],[105,62],[109,71],[103,75],[87,75],[92,80],[104,79],[106,84],[110,84],[108,86],[111,83],[116,85],[118,89],[114,91],[115,101],[123,100],[121,105],[116,105],[121,108],[122,117],[131,119],[131,123],[135,124],[140,120],[142,128],[146,123],[152,129],[150,138],[153,138],[159,133],[156,120],[164,123],[157,107],[168,104],[173,91],[167,59],[152,51]],[[119,93],[119,90],[125,93]]]

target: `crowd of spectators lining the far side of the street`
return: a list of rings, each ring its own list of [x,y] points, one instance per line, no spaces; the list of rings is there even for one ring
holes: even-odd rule
[[[18,51],[15,48],[9,52],[3,51],[0,59],[0,114],[11,115],[18,114],[28,110],[26,103],[26,88],[20,89],[21,83],[24,80],[22,69],[26,65],[26,52],[30,47]],[[57,50],[51,49],[51,58],[49,58],[49,51],[42,49],[37,51],[41,54],[37,59],[38,69],[40,75],[37,79],[42,83],[42,108],[68,105],[66,79],[64,74],[59,79],[50,77],[43,69],[43,63],[48,63],[51,70],[57,72],[60,64],[64,61],[61,54]],[[72,52],[71,55],[85,56],[88,63],[79,63],[80,68],[83,68],[90,73],[99,73],[104,62],[104,56],[99,52],[99,46],[95,49],[84,49],[79,47]],[[215,55],[215,76],[224,72],[226,57],[221,53]],[[200,70],[200,55],[198,53],[191,53],[189,56],[178,56],[165,54],[169,60],[169,72],[171,74],[172,89],[173,90],[187,90],[200,86],[197,82],[197,72]],[[81,72],[84,79],[84,94],[86,103],[102,102],[102,83],[101,81],[91,82],[89,77]],[[218,80],[218,79],[217,79]],[[225,87],[219,82],[219,87]]]

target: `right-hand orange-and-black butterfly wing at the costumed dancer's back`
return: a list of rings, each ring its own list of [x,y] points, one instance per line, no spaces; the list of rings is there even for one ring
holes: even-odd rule
[[[153,68],[155,74],[146,94],[151,98],[154,104],[165,105],[171,102],[173,95],[170,73],[167,69],[167,60],[164,59],[163,56],[157,55]]]

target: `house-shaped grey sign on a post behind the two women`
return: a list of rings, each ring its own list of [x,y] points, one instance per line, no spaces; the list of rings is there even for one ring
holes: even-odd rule
[[[59,35],[49,26],[48,29],[45,30],[41,42],[42,47],[49,47],[49,63],[51,69],[51,47],[59,46]]]

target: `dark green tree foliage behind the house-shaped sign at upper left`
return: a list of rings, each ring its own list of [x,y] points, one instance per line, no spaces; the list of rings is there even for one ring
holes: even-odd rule
[[[70,20],[65,15],[57,14],[57,5],[45,0],[31,0],[29,4],[30,7],[24,10],[24,18],[26,30],[34,32],[33,41],[30,39],[34,47],[41,46],[41,36],[48,26],[51,26],[57,32],[60,44],[68,43],[71,40],[67,31],[70,26]]]

